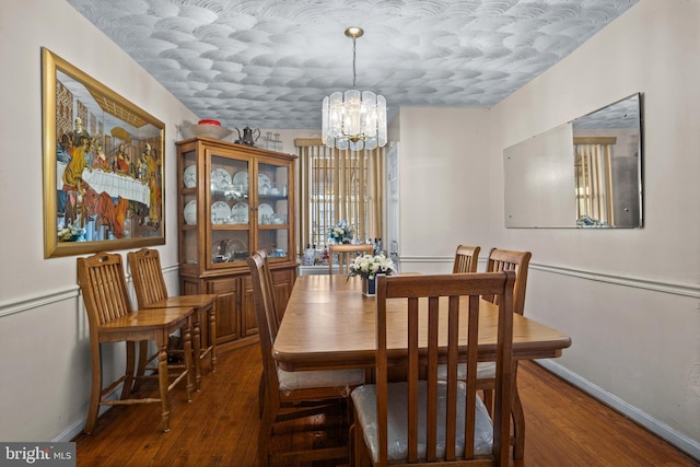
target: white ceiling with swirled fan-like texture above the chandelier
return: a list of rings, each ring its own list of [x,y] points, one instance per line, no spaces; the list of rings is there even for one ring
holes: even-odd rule
[[[199,118],[279,129],[320,129],[352,87],[348,26],[357,89],[390,115],[490,107],[637,1],[68,0]]]

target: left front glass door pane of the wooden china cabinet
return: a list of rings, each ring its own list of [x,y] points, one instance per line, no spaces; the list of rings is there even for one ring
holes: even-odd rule
[[[209,209],[207,257],[210,266],[245,261],[250,246],[250,207],[246,159],[232,159],[207,151]]]

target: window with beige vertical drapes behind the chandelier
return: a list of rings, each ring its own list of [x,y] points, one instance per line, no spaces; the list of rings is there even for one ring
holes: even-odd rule
[[[340,220],[358,240],[382,237],[384,149],[340,151],[320,139],[296,139],[300,166],[300,252],[328,243]]]

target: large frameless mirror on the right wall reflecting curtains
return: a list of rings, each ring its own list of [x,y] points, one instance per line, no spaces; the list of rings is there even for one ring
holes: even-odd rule
[[[637,93],[503,150],[506,227],[641,227]]]

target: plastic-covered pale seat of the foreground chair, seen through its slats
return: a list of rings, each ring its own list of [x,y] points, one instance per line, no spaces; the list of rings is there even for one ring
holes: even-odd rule
[[[439,397],[439,423],[438,423],[438,456],[445,455],[445,399],[447,384],[438,382]],[[457,456],[464,454],[464,423],[466,406],[466,385],[458,384],[457,392]],[[420,382],[418,386],[419,400],[425,400],[428,383]],[[404,460],[408,456],[408,384],[390,383],[388,385],[388,459]],[[376,422],[376,386],[368,384],[355,388],[352,394],[355,407],[357,422],[362,425],[365,443],[370,455],[377,462],[377,422]],[[418,415],[418,455],[425,457],[425,406],[421,405]],[[493,446],[493,424],[483,402],[476,399],[476,431],[474,436],[475,454],[490,455]]]

